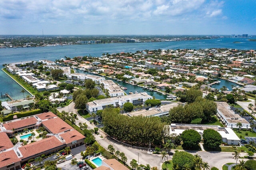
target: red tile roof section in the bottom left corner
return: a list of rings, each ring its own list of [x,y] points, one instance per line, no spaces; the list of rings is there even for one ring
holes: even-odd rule
[[[0,153],[0,168],[15,162],[20,162],[20,158],[16,155],[14,150],[4,151]]]

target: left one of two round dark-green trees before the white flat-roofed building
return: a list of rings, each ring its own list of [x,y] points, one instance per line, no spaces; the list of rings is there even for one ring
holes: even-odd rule
[[[193,129],[185,130],[180,135],[183,141],[183,144],[187,148],[196,148],[201,141],[200,134]]]

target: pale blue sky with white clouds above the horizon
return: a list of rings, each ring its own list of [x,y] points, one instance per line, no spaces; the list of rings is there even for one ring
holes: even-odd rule
[[[0,35],[256,35],[256,0],[3,0]]]

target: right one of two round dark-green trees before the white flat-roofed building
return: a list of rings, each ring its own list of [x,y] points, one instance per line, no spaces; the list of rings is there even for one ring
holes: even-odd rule
[[[214,149],[220,146],[222,142],[221,135],[216,130],[213,130],[213,129],[204,130],[203,138],[204,138],[204,145],[208,148]]]

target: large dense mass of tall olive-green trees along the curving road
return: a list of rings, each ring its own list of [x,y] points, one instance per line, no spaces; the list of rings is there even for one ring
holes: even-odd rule
[[[158,117],[127,117],[118,109],[106,108],[102,112],[104,131],[110,136],[135,146],[156,146],[162,142],[165,123]]]

